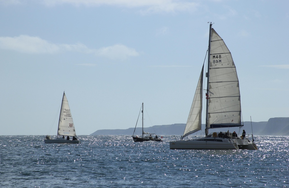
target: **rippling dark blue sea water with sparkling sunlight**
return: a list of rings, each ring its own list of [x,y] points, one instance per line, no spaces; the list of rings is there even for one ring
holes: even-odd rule
[[[252,150],[170,150],[131,136],[0,136],[0,187],[289,187],[289,136],[255,136]]]

